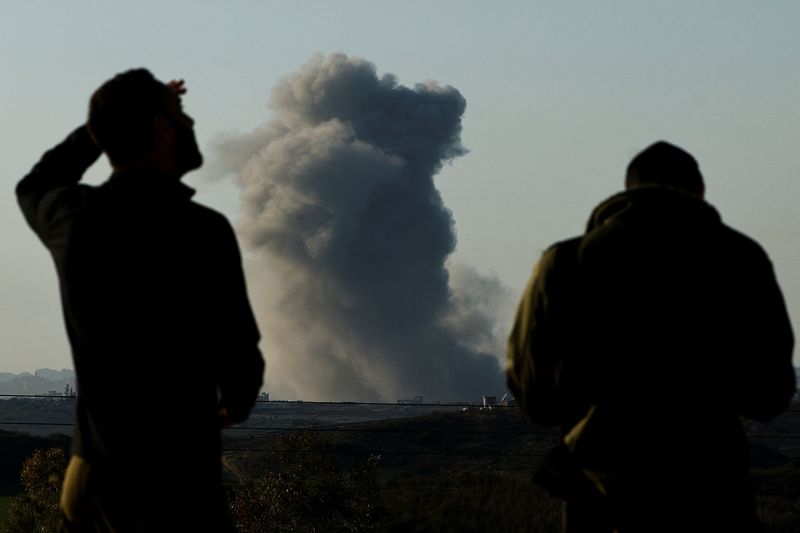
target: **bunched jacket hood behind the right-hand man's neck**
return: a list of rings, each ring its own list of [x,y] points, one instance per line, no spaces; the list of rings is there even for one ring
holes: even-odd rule
[[[636,222],[654,226],[720,224],[719,213],[702,198],[669,187],[637,187],[615,194],[598,205],[586,232],[610,222]]]

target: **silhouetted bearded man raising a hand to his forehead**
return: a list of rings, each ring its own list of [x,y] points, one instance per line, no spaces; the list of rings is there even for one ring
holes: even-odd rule
[[[234,233],[180,182],[202,163],[183,92],[116,76],[17,186],[55,261],[77,372],[70,531],[231,530],[220,429],[247,417],[264,362]],[[112,176],[79,184],[101,150]]]

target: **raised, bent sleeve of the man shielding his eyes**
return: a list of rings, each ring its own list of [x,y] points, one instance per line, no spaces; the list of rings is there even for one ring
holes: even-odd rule
[[[60,219],[79,209],[82,191],[75,185],[101,154],[85,126],[45,152],[17,184],[17,201],[28,224],[43,242]]]

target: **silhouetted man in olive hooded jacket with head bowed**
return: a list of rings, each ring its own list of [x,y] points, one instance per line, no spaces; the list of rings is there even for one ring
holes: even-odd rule
[[[544,252],[511,333],[509,387],[564,435],[538,479],[570,532],[755,531],[740,416],[795,390],[772,265],[680,148],[639,154],[626,189]]]

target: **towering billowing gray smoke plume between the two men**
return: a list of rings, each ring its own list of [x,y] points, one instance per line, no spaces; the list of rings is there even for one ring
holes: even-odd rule
[[[453,220],[433,182],[465,153],[461,94],[334,54],[281,81],[271,103],[271,122],[220,151],[243,187],[273,397],[502,392],[490,314],[501,291],[469,269],[451,287]]]

